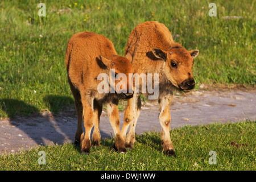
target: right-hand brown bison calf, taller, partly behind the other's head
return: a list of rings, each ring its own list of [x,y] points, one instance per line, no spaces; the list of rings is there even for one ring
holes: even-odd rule
[[[132,58],[135,73],[158,73],[160,106],[159,120],[162,126],[161,141],[167,155],[175,156],[170,138],[170,104],[172,90],[178,89],[189,92],[195,86],[192,76],[193,59],[199,50],[187,51],[172,39],[171,32],[166,26],[158,22],[144,22],[138,24],[131,31],[125,48],[126,57]],[[142,82],[140,87],[142,88]],[[147,85],[148,86],[148,85]],[[156,86],[156,85],[154,85]],[[134,92],[137,92],[134,90]],[[141,110],[141,90],[134,93],[127,103],[121,136],[126,138],[125,146],[133,148],[135,142],[135,126]],[[126,132],[130,126],[130,131]]]

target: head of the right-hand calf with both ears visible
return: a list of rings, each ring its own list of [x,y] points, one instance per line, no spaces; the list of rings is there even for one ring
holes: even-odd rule
[[[162,72],[172,85],[183,92],[189,92],[195,87],[192,67],[193,59],[199,55],[199,50],[187,51],[181,46],[175,46],[166,51],[153,48],[152,53],[158,60],[166,62]]]

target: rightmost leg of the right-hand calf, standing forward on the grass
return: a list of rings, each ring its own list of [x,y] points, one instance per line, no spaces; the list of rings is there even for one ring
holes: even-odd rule
[[[171,122],[171,114],[170,114],[170,104],[171,104],[172,95],[168,94],[160,98],[159,106],[160,106],[160,114],[159,121],[162,126],[161,132],[161,143],[163,145],[164,152],[167,155],[175,156],[174,147],[172,146],[172,141],[170,138],[170,122]]]

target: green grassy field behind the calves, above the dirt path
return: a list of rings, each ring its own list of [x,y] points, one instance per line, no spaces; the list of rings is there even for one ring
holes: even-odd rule
[[[44,1],[46,16],[39,17],[39,1],[1,1],[0,117],[73,104],[64,65],[69,38],[97,32],[123,55],[131,30],[147,20],[164,23],[185,48],[200,49],[197,89],[201,83],[255,85],[255,1],[216,0],[217,17],[208,16],[210,2]],[[222,18],[230,15],[243,18]]]

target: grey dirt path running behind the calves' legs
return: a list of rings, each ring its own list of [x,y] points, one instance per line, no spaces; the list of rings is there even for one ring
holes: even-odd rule
[[[158,104],[142,105],[137,123],[137,134],[144,131],[160,131]],[[205,125],[207,123],[237,122],[256,119],[256,90],[195,91],[175,95],[171,105],[171,129],[184,125]],[[121,127],[123,111],[120,112]],[[101,137],[112,135],[106,113],[100,122]],[[14,153],[20,148],[28,150],[38,145],[73,142],[76,132],[76,114],[42,113],[41,117],[0,120],[0,154]]]

